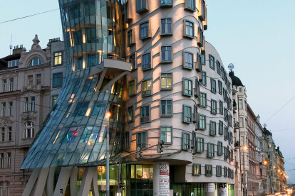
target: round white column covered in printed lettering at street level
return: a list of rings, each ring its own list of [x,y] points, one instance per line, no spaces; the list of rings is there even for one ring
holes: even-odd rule
[[[153,163],[153,190],[154,196],[169,196],[169,162],[159,161]],[[213,195],[214,196],[214,195]]]

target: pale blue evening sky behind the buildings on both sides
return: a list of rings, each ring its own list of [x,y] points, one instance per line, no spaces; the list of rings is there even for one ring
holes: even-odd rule
[[[0,7],[0,58],[10,53],[11,34],[13,47],[23,44],[26,50],[31,49],[35,34],[42,48],[49,39],[62,38],[58,10],[1,23],[58,9],[58,0],[7,2]],[[247,88],[250,107],[261,116],[261,124],[267,124],[284,155],[288,183],[295,183],[295,91],[291,87],[295,72],[295,1],[207,0],[207,6],[205,40],[214,45],[226,68],[234,64],[234,74]]]

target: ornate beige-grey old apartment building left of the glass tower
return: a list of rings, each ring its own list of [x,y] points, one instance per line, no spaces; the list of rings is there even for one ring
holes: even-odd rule
[[[51,109],[52,89],[55,94],[61,89],[62,80],[55,72],[51,77],[51,62],[64,67],[63,60],[51,59],[51,47],[58,49],[54,45],[62,42],[48,43],[46,49],[38,43],[35,36],[29,51],[16,46],[0,60],[0,195],[22,195],[31,170],[21,170],[21,164]]]

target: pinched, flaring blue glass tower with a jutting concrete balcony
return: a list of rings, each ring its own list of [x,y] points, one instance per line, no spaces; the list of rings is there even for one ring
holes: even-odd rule
[[[66,43],[66,78],[22,169],[105,162],[105,112],[110,111],[110,160],[121,150],[124,58],[123,3],[59,0]]]

